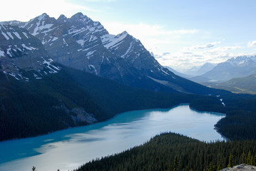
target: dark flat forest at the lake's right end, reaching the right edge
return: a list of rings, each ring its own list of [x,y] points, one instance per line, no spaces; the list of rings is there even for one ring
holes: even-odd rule
[[[225,103],[225,106],[221,104]],[[220,105],[221,104],[221,105]],[[190,107],[197,110],[225,113],[215,126],[230,140],[256,140],[256,95],[221,93],[215,98],[197,98]]]

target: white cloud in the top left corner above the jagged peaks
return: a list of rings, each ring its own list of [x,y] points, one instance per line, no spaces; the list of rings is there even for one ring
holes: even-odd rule
[[[70,17],[78,11],[97,11],[88,6],[72,4],[67,0],[44,0],[40,4],[39,1],[35,0],[8,0],[1,2],[1,7],[0,21],[29,21],[29,19],[33,19],[43,13],[58,18],[61,14]]]

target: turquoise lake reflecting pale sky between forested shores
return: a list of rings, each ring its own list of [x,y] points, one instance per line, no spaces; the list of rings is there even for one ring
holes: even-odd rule
[[[223,140],[214,125],[224,115],[191,110],[136,110],[111,120],[48,135],[0,142],[0,170],[73,170],[96,157],[141,145],[155,135],[180,133],[198,140]]]

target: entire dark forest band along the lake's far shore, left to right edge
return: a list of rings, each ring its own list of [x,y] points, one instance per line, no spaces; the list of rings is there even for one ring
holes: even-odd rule
[[[216,127],[230,140],[256,140],[256,95],[224,90],[216,90],[214,95],[155,92],[124,86],[76,69],[61,68],[59,73],[39,80],[34,78],[32,71],[24,71],[29,82],[0,73],[0,140],[87,125],[72,119],[73,108],[83,108],[102,121],[130,110],[171,108],[180,103],[190,103],[190,108],[195,110],[225,113],[226,118]]]

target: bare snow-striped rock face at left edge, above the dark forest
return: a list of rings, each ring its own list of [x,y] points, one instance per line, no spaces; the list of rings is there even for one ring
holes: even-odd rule
[[[29,81],[23,71],[33,71],[35,78],[41,78],[60,69],[52,65],[41,41],[26,29],[0,24],[0,32],[0,71]]]

